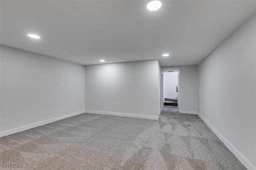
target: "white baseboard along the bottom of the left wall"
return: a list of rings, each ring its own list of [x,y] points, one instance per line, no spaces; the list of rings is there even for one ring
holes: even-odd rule
[[[6,130],[4,132],[0,132],[0,137],[7,136],[7,135],[10,135],[10,134],[14,134],[14,133],[18,133],[18,132],[22,132],[22,131],[28,130],[30,128],[40,127],[40,126],[46,125],[48,123],[52,123],[52,122],[60,121],[62,119],[66,119],[68,117],[80,115],[82,113],[84,113],[84,111],[79,111],[79,112],[76,112],[76,113],[71,113],[71,114],[68,114],[68,115],[55,117],[55,118],[52,118],[52,119],[48,119],[48,120],[45,120],[45,121],[33,123],[33,124],[26,125],[26,126],[23,126],[23,127],[14,128],[14,129],[11,129],[11,130]]]

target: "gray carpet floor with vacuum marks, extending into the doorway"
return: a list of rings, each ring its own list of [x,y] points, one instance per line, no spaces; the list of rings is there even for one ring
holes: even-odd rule
[[[0,153],[0,163],[22,163],[19,170],[246,169],[197,115],[176,106],[158,121],[84,113],[4,136]]]

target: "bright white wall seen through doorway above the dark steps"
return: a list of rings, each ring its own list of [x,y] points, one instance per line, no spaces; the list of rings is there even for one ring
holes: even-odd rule
[[[178,72],[164,73],[164,98],[177,99]]]

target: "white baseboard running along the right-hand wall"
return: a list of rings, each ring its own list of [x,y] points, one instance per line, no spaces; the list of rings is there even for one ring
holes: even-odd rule
[[[246,159],[244,156],[236,150],[236,148],[216,130],[200,113],[198,113],[198,116],[204,121],[204,123],[218,136],[218,138],[227,146],[227,148],[236,156],[236,158],[248,169],[248,170],[256,170],[256,168]]]

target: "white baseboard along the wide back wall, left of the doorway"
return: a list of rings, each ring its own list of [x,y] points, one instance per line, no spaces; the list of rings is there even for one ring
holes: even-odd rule
[[[84,112],[100,114],[100,115],[113,115],[113,116],[135,117],[135,118],[158,120],[158,116],[136,115],[136,114],[130,114],[130,113],[104,112],[104,111],[86,111],[86,110]]]

